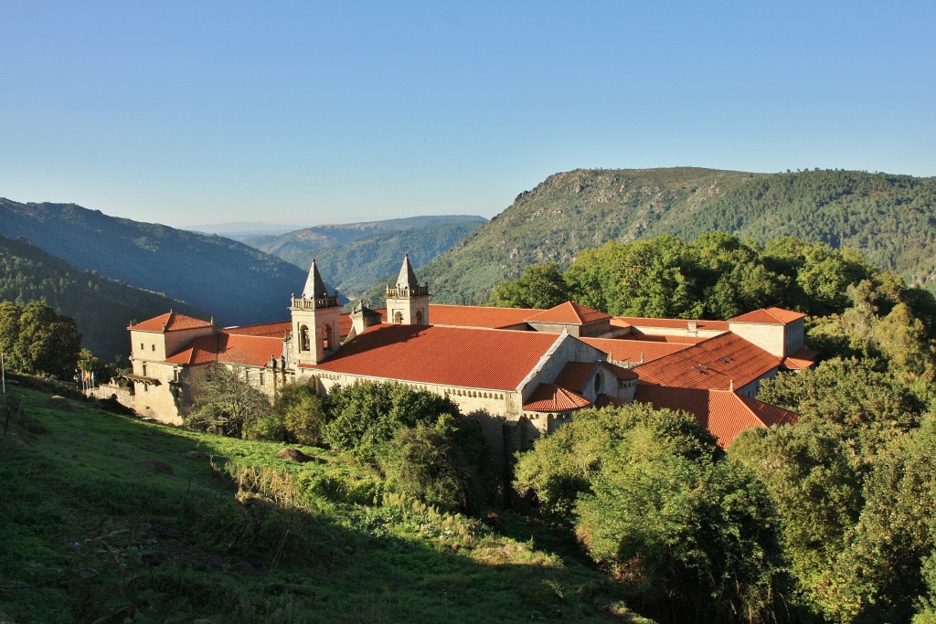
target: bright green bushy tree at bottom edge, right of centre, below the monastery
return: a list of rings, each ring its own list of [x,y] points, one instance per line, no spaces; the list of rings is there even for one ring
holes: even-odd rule
[[[578,538],[654,615],[772,619],[782,559],[773,507],[753,473],[661,448],[640,459],[613,454],[593,488],[576,505]]]

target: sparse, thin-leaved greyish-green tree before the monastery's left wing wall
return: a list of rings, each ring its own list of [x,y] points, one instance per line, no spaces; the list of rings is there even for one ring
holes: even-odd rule
[[[207,427],[227,436],[243,437],[244,427],[270,412],[266,395],[251,385],[242,364],[210,364],[192,388],[190,427]]]

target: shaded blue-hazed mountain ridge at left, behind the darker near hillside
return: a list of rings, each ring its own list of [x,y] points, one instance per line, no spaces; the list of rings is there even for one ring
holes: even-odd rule
[[[230,239],[75,204],[0,198],[0,235],[23,237],[80,270],[167,293],[227,325],[282,318],[289,293],[300,290],[306,277],[304,270]]]

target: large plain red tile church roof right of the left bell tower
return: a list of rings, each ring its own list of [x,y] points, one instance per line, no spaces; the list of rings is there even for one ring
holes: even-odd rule
[[[564,336],[535,331],[379,325],[307,368],[380,379],[516,390]]]

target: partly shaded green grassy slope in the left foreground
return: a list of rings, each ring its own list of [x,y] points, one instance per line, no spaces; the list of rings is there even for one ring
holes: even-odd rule
[[[373,475],[320,449],[287,463],[275,444],[15,395],[0,616],[120,621],[130,602],[155,621],[634,621],[608,612],[600,573],[535,548],[540,529],[520,518],[490,530],[391,496],[373,505]],[[235,477],[257,472],[266,496],[238,492]]]

